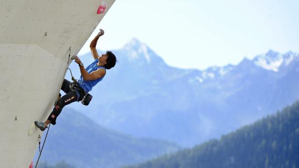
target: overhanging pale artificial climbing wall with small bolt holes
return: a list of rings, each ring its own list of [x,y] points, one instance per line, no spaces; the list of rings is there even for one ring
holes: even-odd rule
[[[29,168],[42,136],[38,129],[29,134],[31,125],[47,119],[69,54],[79,52],[114,1],[0,0],[1,168]]]

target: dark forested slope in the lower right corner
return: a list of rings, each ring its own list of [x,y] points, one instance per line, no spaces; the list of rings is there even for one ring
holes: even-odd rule
[[[123,168],[299,168],[299,102],[220,139]]]

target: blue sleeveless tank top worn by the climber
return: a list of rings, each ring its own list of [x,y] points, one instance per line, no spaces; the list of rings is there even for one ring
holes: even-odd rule
[[[98,66],[98,62],[99,62],[99,60],[95,59],[95,61],[93,61],[90,65],[88,65],[85,68],[85,70],[88,72],[88,74],[90,74],[93,71],[97,71],[98,69],[105,69],[105,71],[106,71],[105,67]],[[84,89],[84,91],[87,93],[87,92],[90,92],[92,87],[94,87],[98,82],[100,82],[104,78],[104,76],[100,77],[98,79],[95,79],[95,80],[84,80],[83,77],[80,76],[80,79],[78,80],[78,83],[79,83],[79,86],[82,89]]]

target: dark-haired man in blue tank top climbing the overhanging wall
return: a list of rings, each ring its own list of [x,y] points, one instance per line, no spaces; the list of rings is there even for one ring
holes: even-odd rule
[[[63,90],[66,94],[58,99],[46,122],[34,122],[41,131],[44,131],[50,123],[55,125],[56,119],[63,107],[75,101],[81,101],[83,97],[91,91],[92,87],[103,79],[106,75],[106,69],[111,69],[115,66],[116,57],[111,51],[107,51],[106,54],[99,56],[96,49],[98,39],[103,34],[104,31],[100,29],[100,32],[91,41],[90,50],[95,61],[93,61],[85,69],[81,60],[77,56],[73,57],[75,62],[79,64],[81,72],[78,84],[71,83],[64,79],[61,90]]]

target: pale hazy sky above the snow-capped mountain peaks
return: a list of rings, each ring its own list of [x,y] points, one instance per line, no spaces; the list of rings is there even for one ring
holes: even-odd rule
[[[99,28],[99,49],[135,37],[171,66],[205,69],[269,49],[298,52],[299,0],[116,0],[79,54]]]

